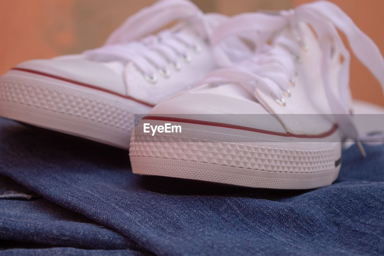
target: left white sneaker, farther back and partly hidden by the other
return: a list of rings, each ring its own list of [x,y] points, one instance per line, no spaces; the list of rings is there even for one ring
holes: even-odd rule
[[[0,78],[0,116],[128,148],[134,114],[216,68],[206,39],[225,19],[186,0],[159,1],[128,18],[101,48],[12,68]],[[173,20],[181,22],[146,36]]]

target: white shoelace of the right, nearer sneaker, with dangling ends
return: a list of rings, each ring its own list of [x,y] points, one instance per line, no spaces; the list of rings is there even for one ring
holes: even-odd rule
[[[302,40],[303,32],[298,23],[308,23],[316,32],[323,50],[321,75],[331,112],[334,114],[335,121],[344,136],[355,140],[361,154],[365,156],[366,154],[360,141],[366,143],[382,141],[384,140],[384,134],[367,136],[358,133],[353,116],[350,115],[348,109],[350,54],[336,28],[346,35],[356,57],[379,80],[384,91],[384,59],[379,48],[371,38],[354,24],[343,10],[327,1],[300,5],[293,10],[282,11],[280,15],[269,16],[271,21],[265,22],[265,20],[260,20],[260,17],[264,17],[260,13],[244,13],[222,23],[212,35],[211,42],[218,44],[229,36],[241,35],[248,40],[252,40],[258,46],[255,48],[255,56],[246,65],[235,66],[235,63],[223,57],[225,53],[218,50],[218,61],[221,62],[220,64],[232,67],[213,71],[200,84],[217,82],[238,83],[245,90],[252,93],[259,102],[262,101],[258,99],[255,88],[262,88],[263,90],[270,91],[280,105],[285,105],[282,95],[283,93],[289,93],[289,90],[287,91],[288,85],[294,82],[292,78],[295,74],[294,61],[292,58],[289,60],[288,56],[292,53],[299,56],[300,47],[306,49],[305,42]],[[279,36],[280,32],[287,26],[296,35],[296,42]],[[270,31],[269,35],[277,34],[273,37],[273,44],[279,43],[289,50],[284,51],[273,47],[260,47],[269,38],[265,36],[251,38],[249,36],[251,31],[263,32],[266,30]],[[268,35],[268,33],[264,33],[264,35]],[[337,48],[344,57],[344,62],[338,75],[340,97],[334,93],[330,78],[331,51],[333,47]],[[266,48],[272,48],[272,50]]]

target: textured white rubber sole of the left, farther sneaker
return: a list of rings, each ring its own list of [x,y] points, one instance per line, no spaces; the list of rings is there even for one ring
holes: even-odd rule
[[[67,81],[18,70],[0,78],[0,116],[129,148],[134,114],[151,107]]]

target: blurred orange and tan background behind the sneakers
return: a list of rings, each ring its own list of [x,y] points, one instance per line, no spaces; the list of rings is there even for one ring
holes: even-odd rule
[[[99,47],[129,15],[155,0],[1,0],[0,74],[34,58],[80,53]],[[194,0],[204,12],[235,15],[258,9],[288,9],[310,0]],[[383,0],[332,0],[384,52]],[[384,70],[383,70],[384,72]],[[353,58],[354,98],[384,106],[376,79]]]

